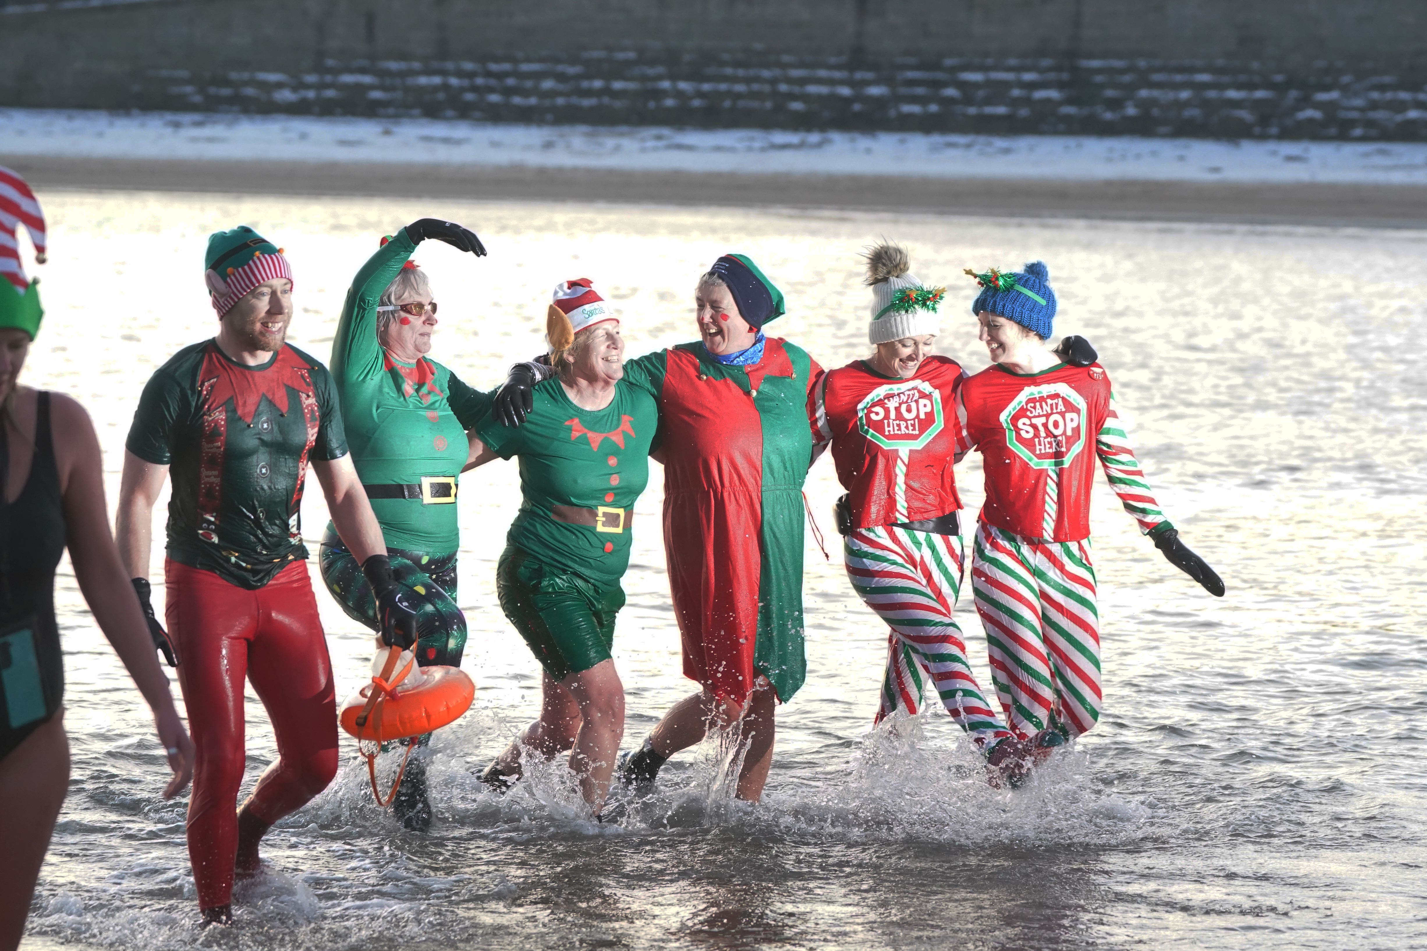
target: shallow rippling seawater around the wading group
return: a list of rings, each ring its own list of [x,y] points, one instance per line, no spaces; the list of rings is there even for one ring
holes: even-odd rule
[[[431,831],[401,831],[372,804],[344,740],[338,780],[274,830],[271,874],[238,891],[241,927],[200,932],[187,803],[158,798],[147,713],[66,562],[74,778],[27,947],[1427,944],[1427,234],[231,195],[41,201],[49,315],[26,378],[90,408],[111,496],[143,382],[214,331],[200,269],[220,227],[253,224],[287,248],[291,339],[324,358],[347,284],[382,234],[425,215],[475,227],[489,258],[444,245],[417,257],[442,305],[432,356],[479,385],[538,352],[549,288],[567,278],[595,278],[622,311],[631,354],[692,338],[694,281],[729,250],[786,292],[791,314],[775,329],[842,365],[868,349],[856,255],[878,235],[906,242],[923,281],[949,285],[942,351],[979,369],[962,268],[1043,258],[1057,331],[1099,346],[1160,502],[1229,595],[1210,597],[1164,562],[1102,483],[1104,717],[1029,787],[996,791],[945,714],[870,731],[885,632],[838,550],[825,560],[809,536],[809,677],[779,713],[765,801],[729,800],[706,743],[674,760],[621,827],[601,827],[558,763],[505,798],[475,780],[534,716],[539,686],[495,606],[495,559],[518,505],[515,468],[495,463],[462,480],[459,600],[478,694],[432,744]],[[973,456],[960,475],[973,508],[977,466]],[[626,749],[691,689],[654,468],[615,640]],[[836,493],[821,461],[808,496],[832,539]],[[313,482],[304,533],[315,540],[324,523]],[[318,602],[345,696],[371,642]],[[969,597],[963,607],[985,683]],[[248,723],[251,784],[274,756],[251,694]]]

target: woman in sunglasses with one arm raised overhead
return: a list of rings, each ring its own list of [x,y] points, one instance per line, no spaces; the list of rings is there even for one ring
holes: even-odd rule
[[[417,612],[417,660],[457,667],[465,649],[465,616],[455,602],[457,479],[469,455],[465,431],[485,415],[491,396],[427,356],[438,308],[427,275],[411,261],[427,238],[485,255],[474,232],[435,218],[382,238],[347,291],[331,372],[352,462],[392,572]],[[327,590],[347,616],[378,630],[371,586],[331,523],[320,563]],[[427,741],[430,734],[421,737],[422,746]],[[407,828],[430,826],[421,757],[411,757],[392,810]]]

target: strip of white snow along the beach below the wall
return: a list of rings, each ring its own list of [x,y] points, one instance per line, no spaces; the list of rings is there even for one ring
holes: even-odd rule
[[[1427,144],[517,125],[0,108],[0,155],[1427,185]]]

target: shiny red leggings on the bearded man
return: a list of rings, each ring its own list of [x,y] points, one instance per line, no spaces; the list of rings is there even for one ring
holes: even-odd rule
[[[255,592],[213,572],[164,562],[168,636],[197,759],[188,800],[188,858],[198,905],[233,895],[237,800],[245,760],[243,677],[253,683],[277,734],[278,759],[247,803],[273,824],[327,788],[337,774],[337,700],[323,622],[294,562]]]

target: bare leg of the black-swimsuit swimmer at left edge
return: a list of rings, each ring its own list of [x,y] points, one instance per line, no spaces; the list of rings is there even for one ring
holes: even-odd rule
[[[20,947],[34,881],[40,877],[68,784],[70,741],[60,710],[0,760],[0,841],[4,843],[0,951]]]

